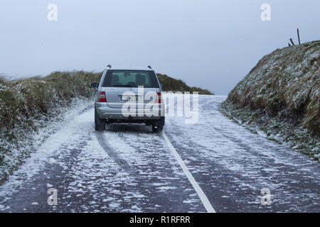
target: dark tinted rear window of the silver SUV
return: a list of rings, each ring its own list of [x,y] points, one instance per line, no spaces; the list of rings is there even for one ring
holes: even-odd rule
[[[149,70],[108,70],[103,87],[156,87],[159,83],[154,71]]]

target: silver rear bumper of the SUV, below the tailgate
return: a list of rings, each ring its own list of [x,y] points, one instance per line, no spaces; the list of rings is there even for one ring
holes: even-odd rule
[[[157,116],[150,116],[144,114],[144,110],[140,109],[136,111],[135,114],[130,116],[125,116],[122,114],[122,109],[110,108],[106,103],[96,102],[95,109],[97,114],[102,119],[114,119],[114,120],[124,120],[124,121],[148,121],[148,120],[159,120],[161,116],[164,116],[164,104],[159,105],[159,114]]]

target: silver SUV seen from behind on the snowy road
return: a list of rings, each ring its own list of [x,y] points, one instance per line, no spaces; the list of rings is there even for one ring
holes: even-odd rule
[[[164,127],[164,103],[161,84],[151,67],[113,68],[108,65],[100,83],[93,82],[95,94],[95,130],[106,123],[146,123],[152,131]]]

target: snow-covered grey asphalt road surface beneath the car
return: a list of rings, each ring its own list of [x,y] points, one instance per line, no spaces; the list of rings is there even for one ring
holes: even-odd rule
[[[199,122],[164,131],[217,212],[320,211],[319,164],[225,118],[200,96]],[[163,135],[149,126],[94,131],[94,109],[60,126],[0,187],[2,212],[206,212]],[[49,188],[58,205],[47,203]],[[271,205],[261,205],[261,189]]]

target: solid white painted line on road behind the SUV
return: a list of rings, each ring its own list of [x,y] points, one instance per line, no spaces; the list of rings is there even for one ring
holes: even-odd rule
[[[181,159],[180,155],[176,152],[176,149],[170,142],[169,138],[166,136],[166,133],[162,131],[162,136],[164,137],[164,140],[166,140],[166,143],[169,145],[169,148],[171,149],[172,153],[174,153],[174,157],[176,157],[176,160],[178,161],[179,165],[181,166],[184,174],[186,177],[188,177],[189,182],[192,184],[193,189],[196,190],[199,198],[201,199],[203,206],[205,206],[206,210],[208,213],[215,213],[215,209],[213,209],[213,206],[210,204],[209,199],[207,198],[206,194],[204,194],[203,190],[199,186],[199,184],[196,182],[196,179],[194,179],[193,175],[191,172],[188,170],[186,165],[184,164],[183,160]]]

